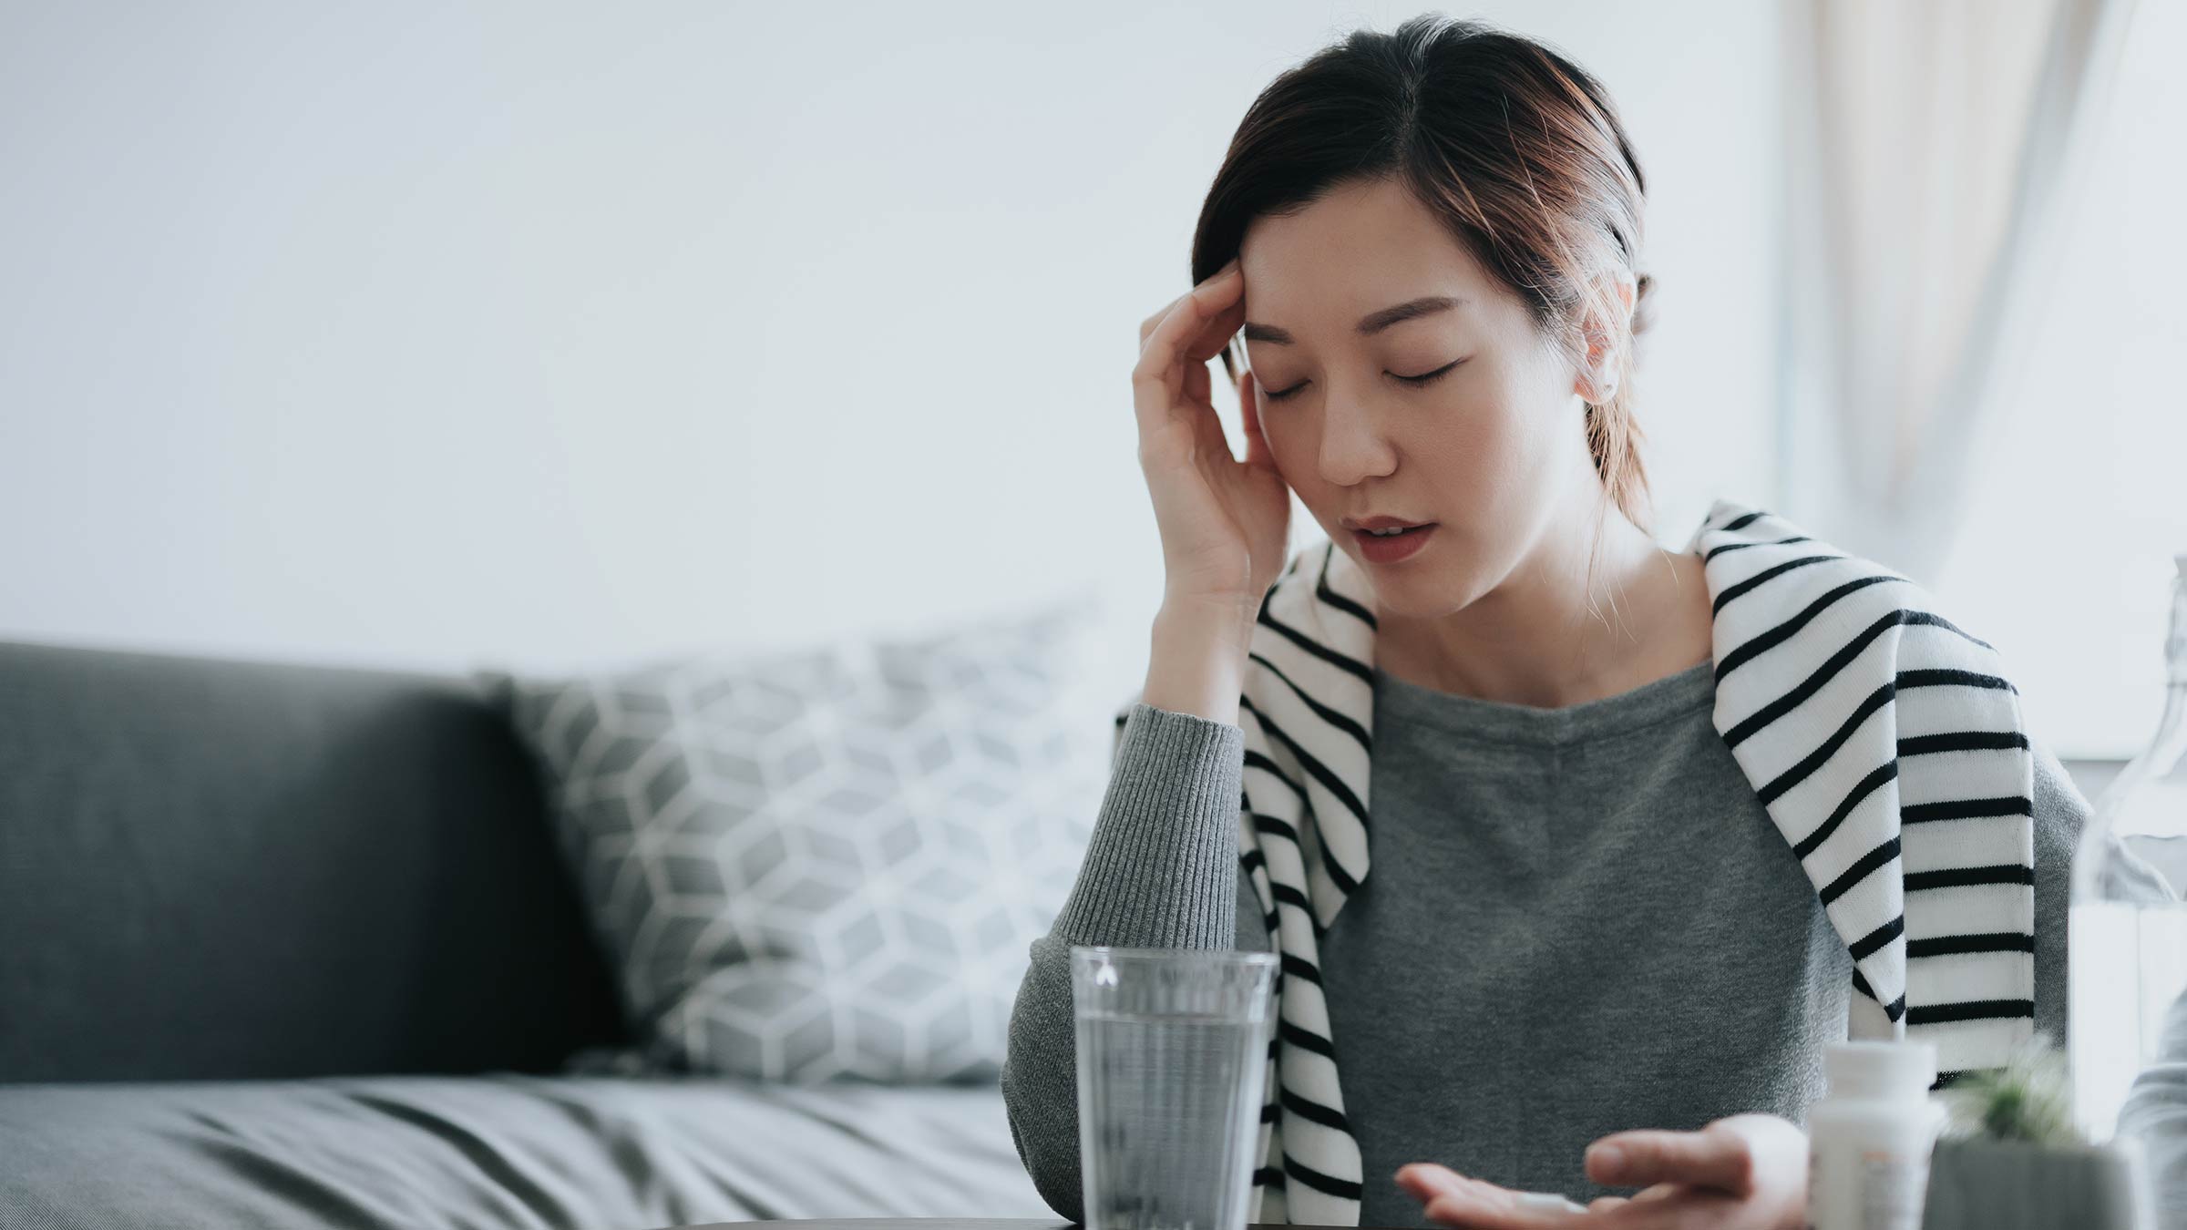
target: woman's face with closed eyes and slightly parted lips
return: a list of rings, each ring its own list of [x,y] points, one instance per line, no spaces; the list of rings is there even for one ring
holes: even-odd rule
[[[1457,611],[1562,545],[1570,519],[1559,512],[1594,495],[1575,492],[1594,481],[1588,385],[1408,190],[1352,184],[1255,219],[1240,269],[1247,361],[1277,471],[1384,611]],[[1415,306],[1387,311],[1400,304]],[[1373,562],[1347,525],[1367,517],[1435,530],[1404,560]]]

